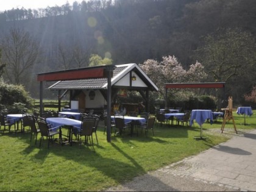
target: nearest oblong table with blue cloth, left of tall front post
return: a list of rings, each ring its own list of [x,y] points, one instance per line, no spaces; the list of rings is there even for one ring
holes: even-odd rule
[[[70,118],[46,118],[46,123],[52,124],[52,127],[60,127],[60,126],[68,126],[68,142],[72,146],[72,134],[74,128],[79,132],[81,128],[82,121],[76,120],[76,119],[70,119]]]

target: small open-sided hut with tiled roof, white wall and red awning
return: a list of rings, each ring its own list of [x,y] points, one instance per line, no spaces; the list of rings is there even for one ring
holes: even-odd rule
[[[37,74],[37,80],[40,81],[40,113],[44,81],[55,81],[49,90],[59,91],[59,110],[60,100],[69,91],[71,108],[101,108],[110,114],[111,104],[115,104],[115,98],[120,94],[126,94],[125,90],[134,90],[141,94],[145,110],[148,111],[149,91],[158,91],[154,82],[136,63],[41,73]]]

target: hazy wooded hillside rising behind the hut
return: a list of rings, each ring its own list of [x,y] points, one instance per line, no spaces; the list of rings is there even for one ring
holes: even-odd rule
[[[36,98],[36,74],[88,66],[91,54],[108,57],[113,65],[174,55],[183,68],[200,62],[208,82],[226,82],[226,94],[243,102],[256,83],[255,19],[254,0],[90,0],[5,10],[0,13],[2,60],[15,31],[28,32],[38,49],[32,48],[37,58],[15,76],[18,81],[3,77],[23,84]]]

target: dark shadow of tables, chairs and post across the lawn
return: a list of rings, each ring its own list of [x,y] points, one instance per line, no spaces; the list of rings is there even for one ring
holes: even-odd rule
[[[99,130],[99,133],[101,130]],[[122,149],[123,147],[130,147],[134,145],[133,141],[141,141],[141,142],[158,142],[163,143],[165,141],[154,138],[151,136],[145,137],[130,137],[129,135],[125,135],[124,137],[113,137],[112,143],[102,144],[99,143],[94,145],[95,151],[92,146],[88,144],[85,146],[84,143],[74,143],[73,146],[69,146],[69,144],[65,144],[65,146],[61,146],[59,143],[50,143],[48,149],[48,141],[43,140],[41,143],[41,148],[39,148],[40,143],[40,134],[38,135],[37,145],[35,145],[35,137],[32,137],[32,141],[30,142],[30,132],[17,132],[17,133],[4,133],[7,137],[17,138],[20,142],[27,143],[25,147],[22,149],[21,154],[29,157],[30,161],[35,163],[43,164],[47,162],[48,158],[62,159],[62,162],[76,162],[81,165],[81,169],[86,167],[87,169],[96,169],[98,172],[101,172],[105,176],[113,179],[116,183],[123,183],[127,180],[131,180],[133,177],[146,174],[145,169],[141,166],[140,163],[137,162],[136,158],[133,158],[132,155],[127,153],[126,150]],[[96,141],[94,137],[94,141]],[[99,140],[100,141],[100,140]],[[119,144],[123,145],[120,147]],[[104,155],[104,150],[109,150],[110,155]],[[129,150],[128,150],[129,151]],[[52,156],[54,154],[54,156]],[[60,163],[62,163],[60,162]],[[58,163],[58,162],[56,162]],[[70,167],[72,169],[72,163],[70,163]],[[174,190],[165,183],[162,183],[157,178],[154,178],[154,182],[157,182],[158,185],[162,187]],[[107,185],[106,185],[107,186]]]

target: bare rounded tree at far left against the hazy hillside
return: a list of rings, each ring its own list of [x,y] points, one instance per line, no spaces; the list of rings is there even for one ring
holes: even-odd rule
[[[12,84],[23,84],[30,77],[40,56],[39,43],[29,32],[12,28],[1,41],[2,59],[6,63],[4,77]]]

